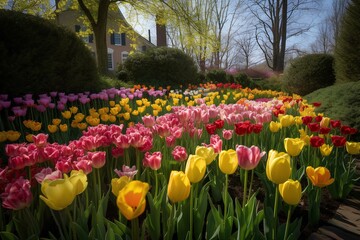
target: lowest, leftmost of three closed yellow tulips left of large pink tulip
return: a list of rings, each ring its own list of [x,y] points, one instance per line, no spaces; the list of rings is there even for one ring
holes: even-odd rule
[[[171,171],[167,195],[171,202],[181,202],[190,195],[190,180],[182,171]]]

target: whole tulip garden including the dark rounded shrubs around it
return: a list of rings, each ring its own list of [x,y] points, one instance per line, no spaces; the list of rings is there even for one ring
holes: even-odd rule
[[[9,12],[1,239],[306,239],[359,180],[360,85],[336,84],[336,55],[256,80],[155,48],[111,79],[74,33]]]

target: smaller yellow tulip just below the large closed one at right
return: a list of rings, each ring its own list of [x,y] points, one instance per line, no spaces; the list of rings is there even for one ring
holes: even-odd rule
[[[301,200],[301,184],[292,179],[279,184],[279,192],[283,200],[289,205],[297,205]]]

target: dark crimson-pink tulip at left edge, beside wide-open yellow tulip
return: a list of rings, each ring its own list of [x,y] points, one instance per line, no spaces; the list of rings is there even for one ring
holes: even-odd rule
[[[2,206],[12,210],[20,210],[30,206],[33,199],[30,181],[20,177],[6,185],[0,194]]]

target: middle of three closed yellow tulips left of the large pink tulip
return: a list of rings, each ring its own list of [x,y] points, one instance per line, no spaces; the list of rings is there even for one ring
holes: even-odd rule
[[[185,174],[190,182],[197,183],[203,179],[206,171],[206,161],[198,155],[189,155],[186,162]]]

